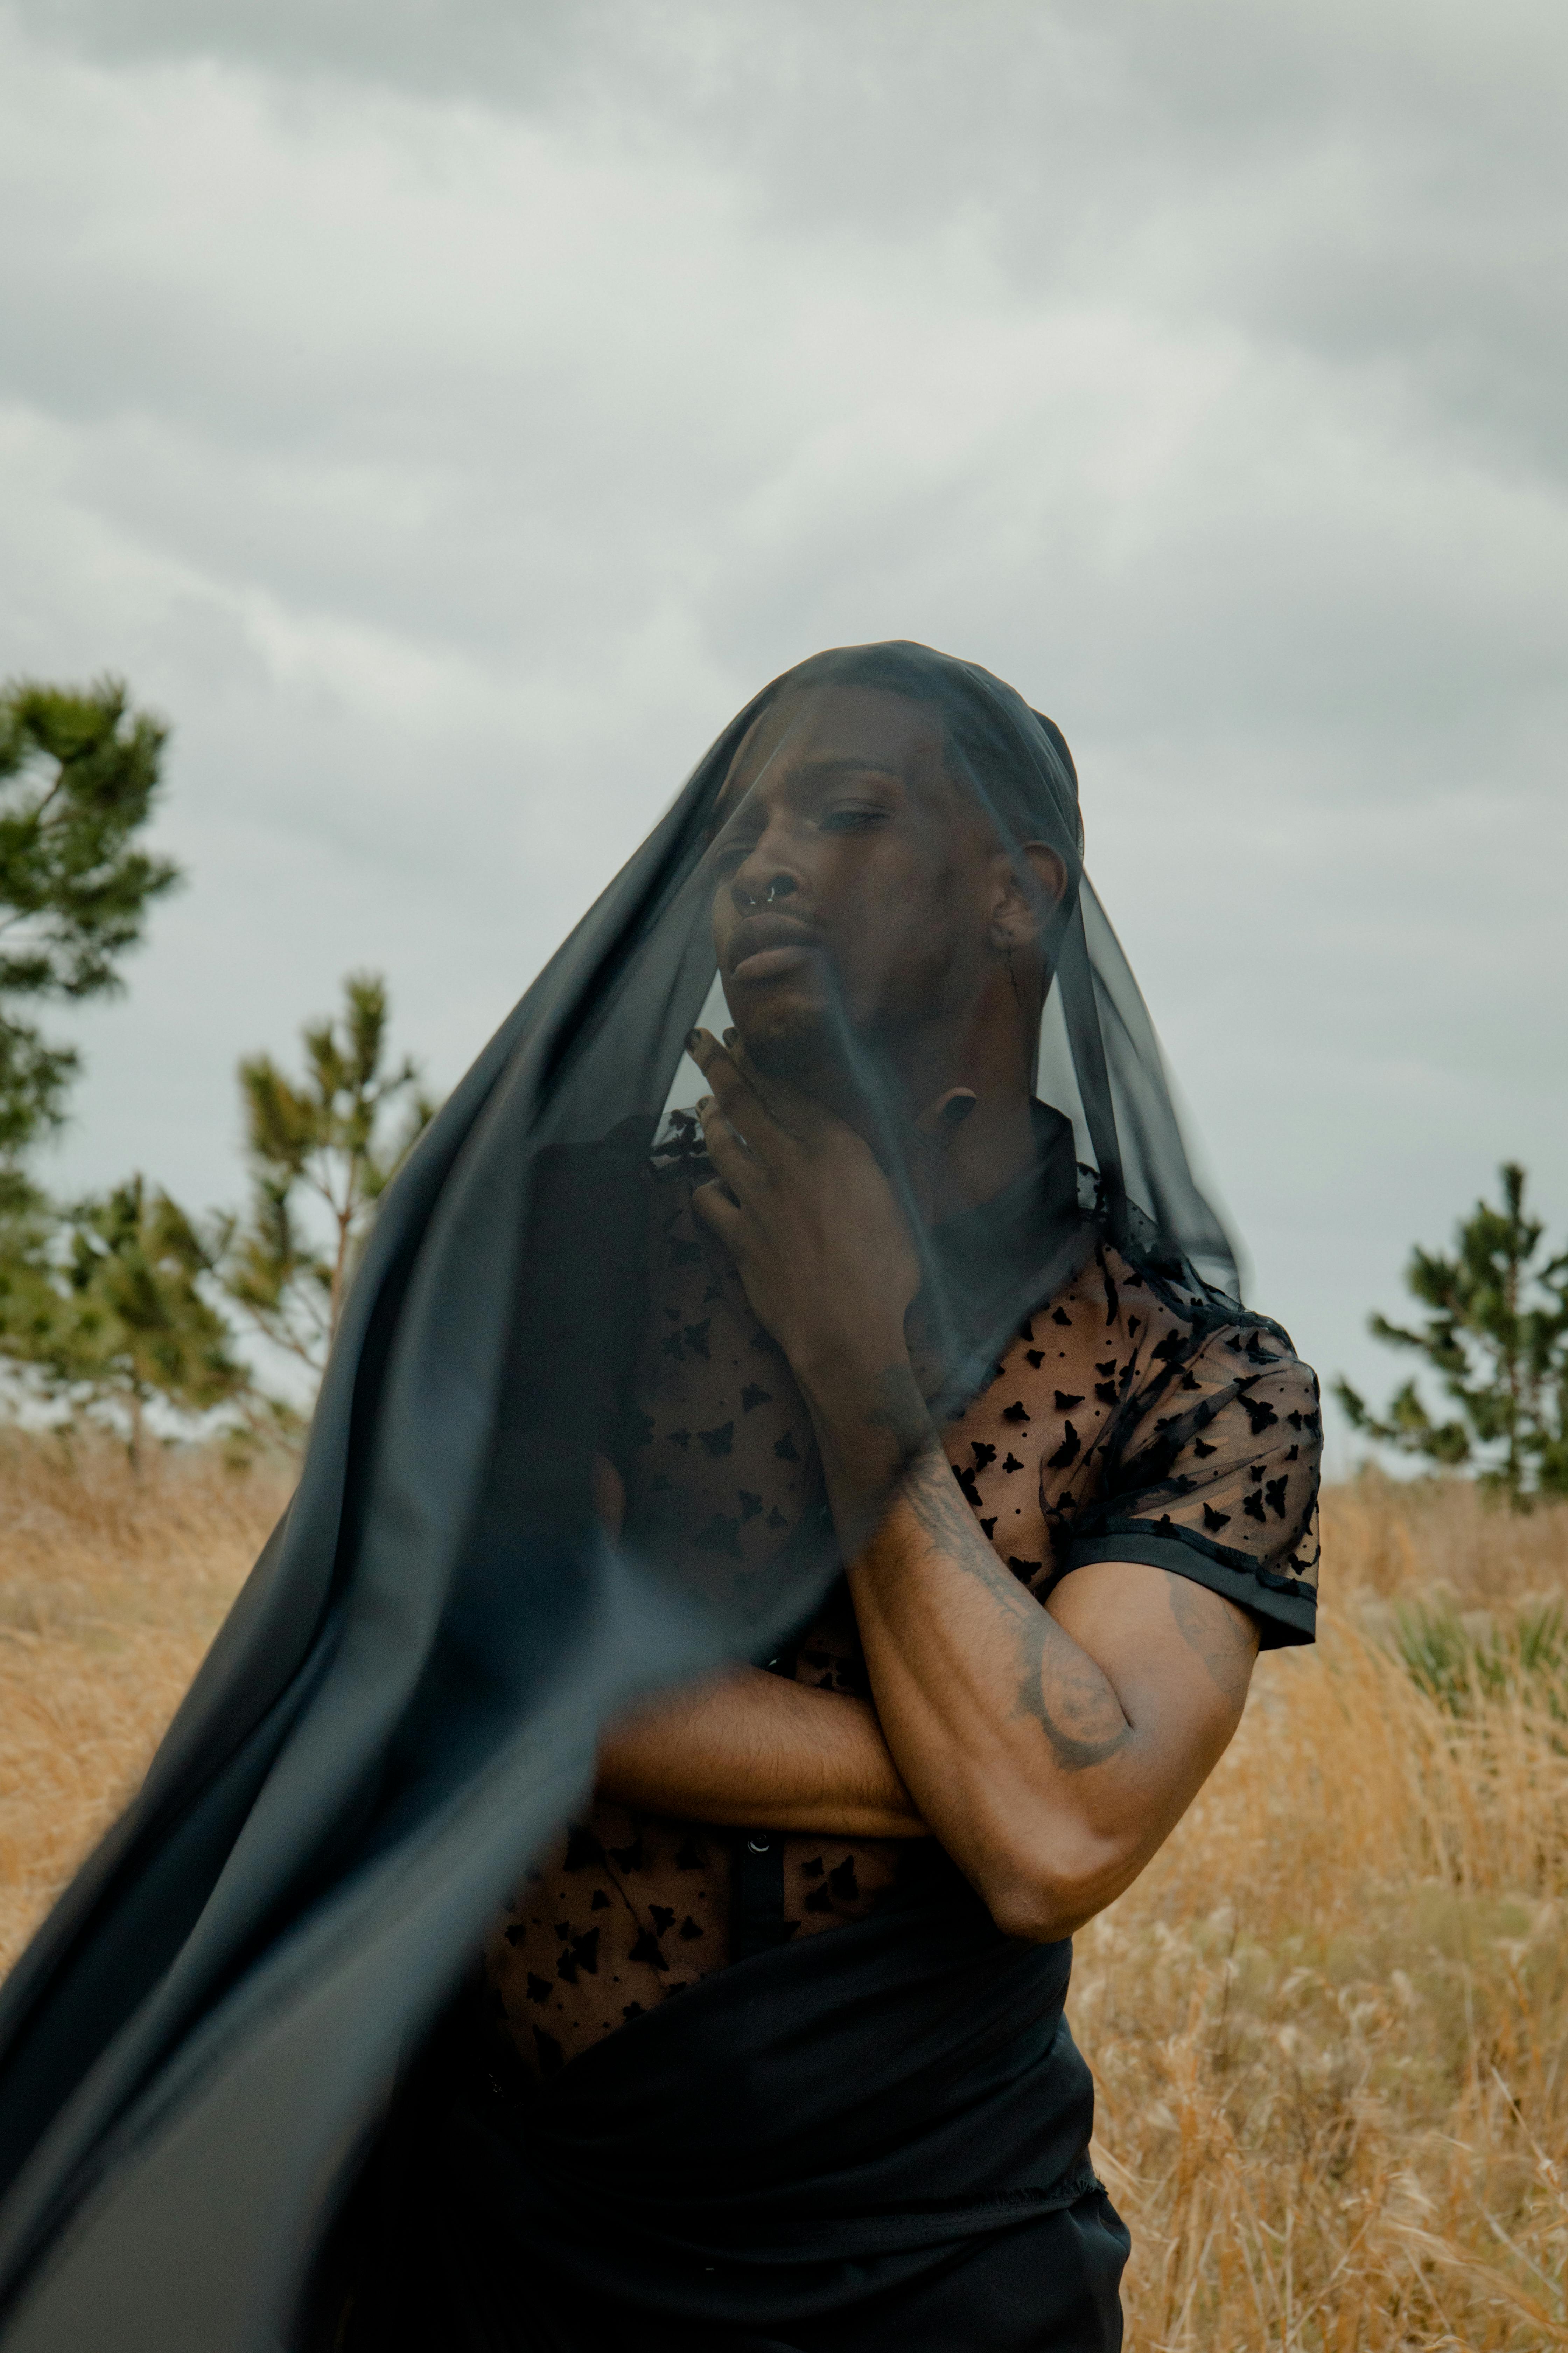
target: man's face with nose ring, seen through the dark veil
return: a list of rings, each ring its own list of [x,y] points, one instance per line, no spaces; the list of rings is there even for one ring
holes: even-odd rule
[[[724,995],[759,1068],[806,1078],[844,1031],[919,1054],[1004,960],[994,838],[936,713],[903,694],[783,694],[736,755],[710,861]]]

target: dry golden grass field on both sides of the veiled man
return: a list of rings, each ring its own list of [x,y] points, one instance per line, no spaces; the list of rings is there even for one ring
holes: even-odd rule
[[[0,1967],[132,1788],[282,1504],[0,1445]],[[1262,1661],[1070,2014],[1135,2353],[1568,2346],[1568,1511],[1326,1499]]]

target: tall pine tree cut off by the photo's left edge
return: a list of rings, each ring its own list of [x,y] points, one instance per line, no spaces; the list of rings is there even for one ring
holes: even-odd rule
[[[153,814],[167,729],[134,713],[120,680],[0,689],[0,1160],[63,1118],[78,1071],[19,1012],[122,986],[118,960],[146,911],[179,882],[136,835]]]

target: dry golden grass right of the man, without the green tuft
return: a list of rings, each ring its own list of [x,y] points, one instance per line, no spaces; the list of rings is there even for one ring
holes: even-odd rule
[[[1568,1753],[1549,1692],[1455,1718],[1389,1605],[1568,1593],[1568,1511],[1326,1499],[1316,1652],[1079,1939],[1072,2019],[1133,2228],[1138,2353],[1568,2346]]]

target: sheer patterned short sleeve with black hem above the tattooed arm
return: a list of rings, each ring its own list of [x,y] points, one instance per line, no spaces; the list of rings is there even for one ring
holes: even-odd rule
[[[1312,1642],[1324,1452],[1312,1367],[1251,1318],[1190,1344],[1171,1334],[1159,1355],[1074,1515],[1063,1574],[1145,1560],[1251,1609],[1265,1649]]]

